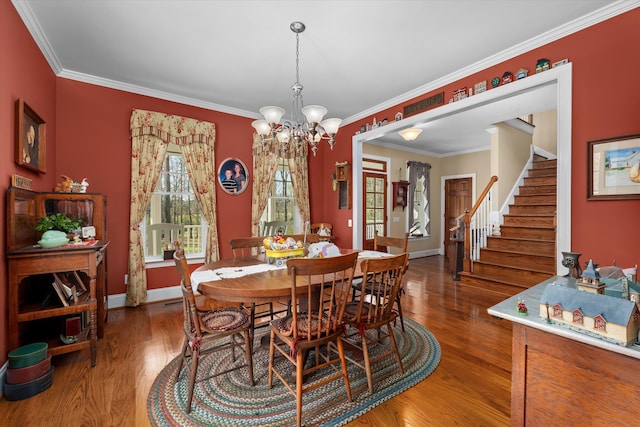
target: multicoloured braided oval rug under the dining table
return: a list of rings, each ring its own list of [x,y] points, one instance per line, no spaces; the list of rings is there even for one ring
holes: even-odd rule
[[[363,369],[348,363],[353,402],[347,400],[344,381],[338,379],[302,396],[302,422],[307,426],[341,426],[370,411],[382,402],[413,387],[433,373],[440,363],[440,344],[422,325],[405,318],[404,333],[394,328],[404,364],[400,373],[393,356],[374,365],[374,393],[369,393]],[[263,331],[261,331],[263,332]],[[266,331],[264,331],[266,332]],[[264,333],[263,332],[263,333]],[[268,332],[267,332],[268,333]],[[367,333],[375,334],[375,331]],[[149,419],[154,426],[290,426],[296,424],[295,398],[274,376],[273,388],[267,384],[268,346],[260,346],[256,334],[254,380],[251,387],[246,368],[197,382],[191,413],[185,411],[188,375],[183,369],[176,382],[179,359],[175,358],[153,382],[147,398]],[[383,345],[387,345],[388,340]],[[372,346],[371,356],[376,353]],[[236,363],[243,363],[243,350],[236,349]],[[201,359],[198,373],[222,371],[232,365],[231,354],[213,353]],[[331,369],[327,367],[325,369]],[[305,383],[322,376],[320,370],[305,377]]]

